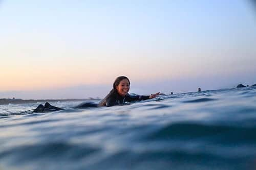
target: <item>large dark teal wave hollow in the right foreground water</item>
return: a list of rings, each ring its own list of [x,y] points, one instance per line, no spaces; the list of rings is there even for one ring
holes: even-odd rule
[[[256,143],[256,127],[227,125],[204,125],[176,123],[160,128],[148,135],[146,140],[189,140],[200,139],[222,144]]]

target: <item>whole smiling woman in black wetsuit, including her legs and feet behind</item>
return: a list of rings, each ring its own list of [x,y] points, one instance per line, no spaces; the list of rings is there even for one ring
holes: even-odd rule
[[[120,76],[116,78],[113,83],[113,89],[110,91],[108,95],[102,99],[99,104],[95,105],[94,103],[82,103],[75,108],[87,108],[87,107],[102,107],[102,106],[115,106],[115,105],[124,105],[125,102],[132,101],[141,101],[147,99],[153,99],[160,92],[151,94],[151,95],[130,95],[128,92],[130,90],[130,80],[125,76]],[[39,105],[33,112],[52,112],[63,110],[62,108],[58,108],[50,105],[46,102],[45,106]]]

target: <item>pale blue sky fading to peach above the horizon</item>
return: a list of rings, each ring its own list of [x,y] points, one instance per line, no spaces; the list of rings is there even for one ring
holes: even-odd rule
[[[250,1],[1,1],[0,98],[103,98],[256,83]]]

